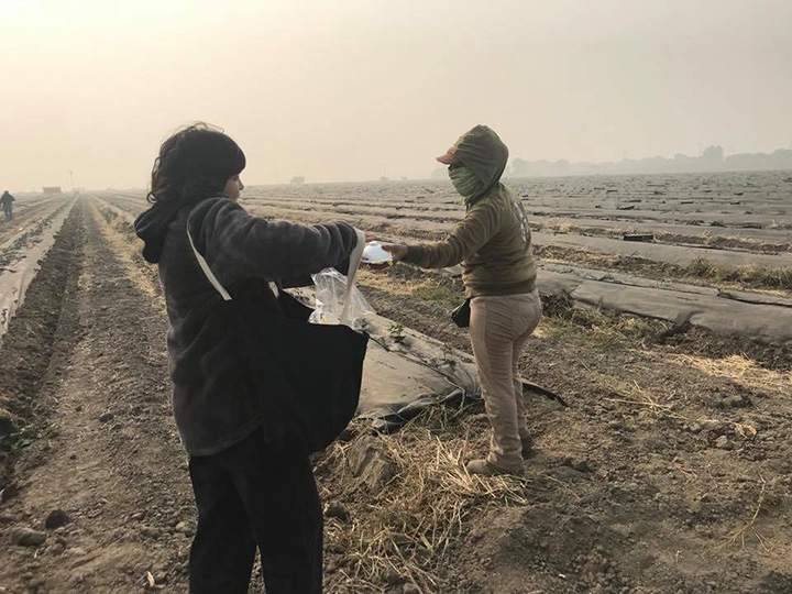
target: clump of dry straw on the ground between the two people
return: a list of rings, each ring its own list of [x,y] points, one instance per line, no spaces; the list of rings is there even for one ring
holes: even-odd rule
[[[334,592],[380,593],[389,575],[425,593],[441,592],[443,560],[469,514],[488,505],[527,503],[524,479],[468,473],[469,431],[449,415],[448,409],[431,409],[382,438],[397,469],[395,477],[367,498],[351,524],[330,521],[326,527],[328,542],[340,546],[348,559]],[[342,485],[353,482],[346,464],[351,447],[337,443],[326,461]]]

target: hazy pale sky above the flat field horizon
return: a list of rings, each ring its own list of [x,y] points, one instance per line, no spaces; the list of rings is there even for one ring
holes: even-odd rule
[[[122,8],[121,8],[122,7]],[[792,143],[790,0],[0,0],[0,186],[144,187],[194,120],[248,184]]]

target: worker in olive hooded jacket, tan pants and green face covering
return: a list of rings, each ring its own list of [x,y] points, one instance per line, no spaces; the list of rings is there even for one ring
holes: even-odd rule
[[[383,248],[395,261],[425,268],[462,264],[471,343],[493,428],[488,455],[471,460],[468,471],[521,474],[522,455],[532,440],[517,366],[542,311],[528,220],[517,195],[501,183],[508,148],[490,128],[465,132],[437,160],[449,166],[466,209],[464,219],[443,241]]]

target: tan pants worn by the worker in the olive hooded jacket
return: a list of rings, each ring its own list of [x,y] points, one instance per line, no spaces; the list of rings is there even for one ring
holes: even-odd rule
[[[521,437],[528,437],[519,355],[541,318],[539,293],[471,300],[470,337],[493,438],[487,462],[522,471]]]

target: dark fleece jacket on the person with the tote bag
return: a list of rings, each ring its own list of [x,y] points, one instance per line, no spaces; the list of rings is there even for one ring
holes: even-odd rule
[[[265,419],[252,382],[233,355],[232,327],[212,309],[220,295],[204,275],[187,239],[234,299],[278,309],[270,282],[338,266],[358,241],[344,223],[305,226],[250,215],[226,197],[189,206],[155,205],[135,221],[144,257],[158,264],[170,328],[167,346],[173,409],[186,450],[210,455],[233,446]]]

